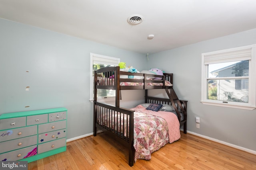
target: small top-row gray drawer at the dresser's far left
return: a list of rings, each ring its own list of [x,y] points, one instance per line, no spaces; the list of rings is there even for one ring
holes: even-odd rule
[[[0,130],[26,126],[26,117],[0,119]]]

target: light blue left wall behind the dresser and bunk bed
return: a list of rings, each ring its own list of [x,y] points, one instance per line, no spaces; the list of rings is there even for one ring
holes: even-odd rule
[[[90,53],[146,68],[145,55],[0,19],[0,114],[66,107],[67,138],[92,133]],[[134,106],[135,96],[120,105]]]

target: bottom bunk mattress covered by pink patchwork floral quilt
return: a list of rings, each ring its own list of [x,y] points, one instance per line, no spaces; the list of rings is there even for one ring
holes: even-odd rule
[[[178,117],[169,111],[152,111],[142,105],[134,108],[134,160],[151,159],[151,153],[167,143],[180,139],[180,123]],[[112,117],[112,118],[111,118]],[[98,123],[113,131],[122,131],[124,136],[129,134],[127,117],[122,113],[105,116],[102,114]],[[128,126],[127,126],[128,125]]]

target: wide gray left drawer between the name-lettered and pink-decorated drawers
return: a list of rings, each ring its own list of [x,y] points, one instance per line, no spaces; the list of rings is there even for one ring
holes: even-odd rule
[[[37,144],[37,135],[24,137],[20,139],[14,139],[11,141],[5,141],[0,143],[0,153],[7,152],[10,150],[21,149],[31,145]]]

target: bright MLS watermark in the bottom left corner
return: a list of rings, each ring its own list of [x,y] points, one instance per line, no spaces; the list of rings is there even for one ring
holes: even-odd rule
[[[28,170],[28,161],[1,161],[1,170]]]

